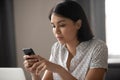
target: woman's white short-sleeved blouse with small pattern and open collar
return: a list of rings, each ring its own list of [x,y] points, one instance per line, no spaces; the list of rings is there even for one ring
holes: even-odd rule
[[[69,70],[66,65],[68,55],[65,45],[56,42],[51,49],[50,61],[61,65],[78,80],[85,79],[88,69],[108,67],[108,49],[102,40],[91,39],[81,42],[76,47],[76,55],[71,60]],[[57,73],[53,73],[53,79],[62,80]]]

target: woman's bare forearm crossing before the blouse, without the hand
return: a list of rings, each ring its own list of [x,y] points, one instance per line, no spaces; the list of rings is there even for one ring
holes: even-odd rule
[[[63,80],[77,80],[74,76],[72,76],[61,66],[57,68],[57,73],[62,77]]]

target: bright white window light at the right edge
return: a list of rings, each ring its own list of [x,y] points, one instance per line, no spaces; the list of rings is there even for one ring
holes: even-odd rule
[[[106,0],[105,11],[109,56],[120,56],[120,0]]]

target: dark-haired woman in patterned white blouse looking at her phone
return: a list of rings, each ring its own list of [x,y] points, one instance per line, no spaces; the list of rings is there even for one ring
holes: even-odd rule
[[[39,55],[25,55],[24,66],[32,80],[103,80],[107,70],[107,46],[93,38],[86,15],[75,1],[57,4],[49,19],[58,40],[49,61]]]

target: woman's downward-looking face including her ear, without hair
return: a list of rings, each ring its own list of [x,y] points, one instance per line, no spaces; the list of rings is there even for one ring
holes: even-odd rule
[[[53,26],[53,34],[60,43],[64,44],[77,41],[77,31],[80,29],[81,23],[52,14],[51,24]]]

